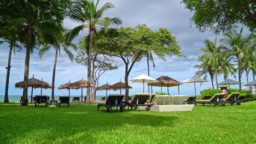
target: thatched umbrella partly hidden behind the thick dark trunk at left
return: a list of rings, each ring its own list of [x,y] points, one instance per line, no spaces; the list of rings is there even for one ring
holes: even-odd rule
[[[23,88],[24,87],[24,81],[20,81],[15,83],[15,87],[16,88]],[[32,87],[32,91],[31,91],[31,101],[30,103],[32,103],[32,96],[33,96],[33,88],[41,88],[41,95],[42,95],[42,88],[47,89],[47,88],[51,88],[52,86],[50,85],[50,83],[47,83],[45,81],[40,81],[38,79],[34,78],[34,75],[31,79],[28,79],[28,87]]]

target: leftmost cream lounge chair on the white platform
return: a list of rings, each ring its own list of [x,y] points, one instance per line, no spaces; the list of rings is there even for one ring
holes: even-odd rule
[[[155,95],[154,99],[151,101],[152,105],[171,105],[171,100],[173,96],[170,95]]]

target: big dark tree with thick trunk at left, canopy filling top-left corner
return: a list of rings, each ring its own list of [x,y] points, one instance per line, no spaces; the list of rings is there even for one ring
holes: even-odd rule
[[[30,53],[33,52],[36,46],[42,44],[45,32],[60,31],[63,20],[62,8],[65,6],[63,3],[67,3],[67,1],[16,0],[10,1],[7,7],[1,7],[1,16],[7,15],[6,17],[11,17],[11,25],[9,27],[17,27],[19,30],[18,35],[22,35],[20,42],[26,46],[22,106],[28,105],[27,87]],[[49,5],[52,7],[49,7]]]

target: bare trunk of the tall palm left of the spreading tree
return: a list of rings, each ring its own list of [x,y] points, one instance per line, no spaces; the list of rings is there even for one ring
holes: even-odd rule
[[[92,29],[90,29],[89,37],[89,50],[88,50],[88,65],[87,65],[87,94],[86,94],[86,104],[89,105],[91,104],[91,95],[90,95],[90,90],[91,90],[91,49],[92,49],[92,37],[93,37],[93,32]]]

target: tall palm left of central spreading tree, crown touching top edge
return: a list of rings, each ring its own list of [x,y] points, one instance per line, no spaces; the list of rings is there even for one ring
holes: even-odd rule
[[[103,29],[104,32],[109,31],[109,27],[111,25],[120,25],[122,22],[118,17],[109,18],[102,16],[104,12],[110,8],[114,8],[112,3],[105,3],[99,10],[97,10],[97,6],[100,0],[97,0],[96,4],[94,1],[89,0],[79,0],[74,2],[71,8],[68,10],[66,16],[71,20],[82,23],[71,31],[69,31],[66,41],[71,42],[74,37],[76,37],[80,31],[84,28],[88,28],[89,30],[89,46],[88,46],[88,88],[87,88],[87,97],[86,104],[90,104],[90,87],[91,87],[91,49],[92,49],[92,38],[97,29]],[[86,47],[85,47],[86,48]]]

